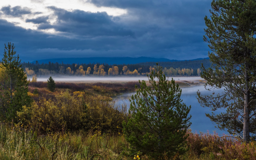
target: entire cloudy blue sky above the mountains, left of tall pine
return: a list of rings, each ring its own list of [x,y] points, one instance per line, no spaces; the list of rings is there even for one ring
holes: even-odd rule
[[[80,57],[208,57],[211,0],[9,0],[0,4],[0,51],[21,61]],[[2,49],[1,49],[2,48]],[[0,54],[0,58],[2,58]]]

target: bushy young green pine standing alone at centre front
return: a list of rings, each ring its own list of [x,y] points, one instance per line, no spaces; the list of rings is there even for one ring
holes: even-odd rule
[[[155,81],[156,79],[156,81]],[[123,122],[126,140],[134,151],[153,158],[173,156],[185,151],[190,126],[191,106],[181,103],[181,89],[174,80],[167,80],[160,66],[148,76],[150,86],[143,80],[137,94],[131,97],[128,122]]]

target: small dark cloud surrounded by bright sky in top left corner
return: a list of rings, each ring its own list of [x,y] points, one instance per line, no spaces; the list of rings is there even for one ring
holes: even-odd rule
[[[5,15],[13,16],[13,17],[21,17],[23,14],[31,14],[30,8],[27,8],[27,7],[22,8],[20,6],[11,7],[9,5],[6,7],[2,7],[1,11],[3,11]]]

